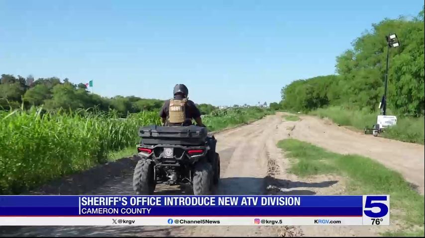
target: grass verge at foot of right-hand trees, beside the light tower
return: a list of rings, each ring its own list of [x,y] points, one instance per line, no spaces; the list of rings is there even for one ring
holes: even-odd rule
[[[344,110],[342,107],[321,108],[310,112],[310,115],[320,118],[329,118],[340,125],[353,126],[363,130],[365,127],[371,127],[376,123],[378,113],[371,114],[368,111]],[[405,142],[424,144],[425,141],[425,120],[424,117],[409,118],[397,116],[397,125],[386,129],[380,136],[390,139],[396,139]]]

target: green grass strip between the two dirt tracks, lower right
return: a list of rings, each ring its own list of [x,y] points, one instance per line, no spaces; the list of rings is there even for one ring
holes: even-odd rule
[[[358,155],[341,155],[296,139],[278,142],[291,158],[290,171],[300,177],[335,174],[347,178],[347,193],[389,194],[391,208],[401,211],[392,215],[404,223],[397,234],[424,234],[424,196],[413,190],[403,177],[374,160]],[[389,235],[389,234],[388,234]]]

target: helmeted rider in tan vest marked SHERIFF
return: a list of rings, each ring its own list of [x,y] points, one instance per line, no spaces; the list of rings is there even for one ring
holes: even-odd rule
[[[188,126],[195,119],[199,126],[202,123],[201,113],[195,103],[188,99],[189,90],[184,84],[174,86],[174,98],[166,100],[159,112],[162,124],[167,126]]]

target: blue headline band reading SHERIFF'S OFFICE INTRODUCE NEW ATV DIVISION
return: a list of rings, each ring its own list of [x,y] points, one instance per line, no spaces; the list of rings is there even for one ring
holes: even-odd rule
[[[208,199],[207,199],[208,198]],[[298,204],[281,204],[299,200]],[[377,207],[369,199],[365,207]],[[208,205],[206,205],[208,202]],[[379,207],[379,206],[378,206]],[[366,210],[366,209],[365,209]],[[367,215],[367,214],[366,214]],[[363,216],[363,196],[1,196],[1,216]],[[165,219],[163,220],[165,222]],[[172,223],[167,219],[167,224]]]

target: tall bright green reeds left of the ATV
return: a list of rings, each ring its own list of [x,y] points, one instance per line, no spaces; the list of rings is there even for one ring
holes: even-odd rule
[[[116,112],[0,111],[0,193],[105,163],[109,152],[135,145],[137,126],[158,123],[153,112],[119,119]]]

